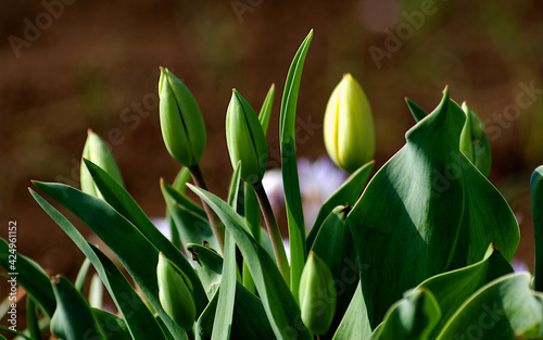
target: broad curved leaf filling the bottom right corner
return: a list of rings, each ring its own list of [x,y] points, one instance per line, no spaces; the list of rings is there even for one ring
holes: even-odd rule
[[[437,339],[543,339],[543,294],[529,285],[528,273],[488,284],[465,301]]]

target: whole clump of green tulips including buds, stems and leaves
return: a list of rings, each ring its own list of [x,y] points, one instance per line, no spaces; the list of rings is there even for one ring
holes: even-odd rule
[[[42,181],[29,189],[86,261],[71,282],[50,278],[18,254],[28,329],[2,329],[41,339],[49,328],[65,340],[543,339],[543,166],[531,178],[532,277],[509,264],[519,227],[487,178],[491,156],[483,126],[450,98],[449,88],[430,113],[406,100],[416,124],[405,146],[370,178],[371,109],[359,84],[343,76],[326,108],[324,137],[332,161],[351,176],[305,232],[295,111],[312,36],[294,55],[279,116],[290,257],[262,185],[275,87],[258,114],[232,91],[226,142],[233,172],[222,199],[207,191],[199,167],[205,126],[198,103],[161,68],[162,136],[181,165],[172,184],[160,182],[171,238],[126,191],[105,143],[89,130],[81,190]],[[118,262],[89,243],[43,196],[81,219]],[[11,253],[1,240],[0,265],[8,273]],[[87,293],[90,265],[97,276]],[[115,314],[101,307],[98,278]]]

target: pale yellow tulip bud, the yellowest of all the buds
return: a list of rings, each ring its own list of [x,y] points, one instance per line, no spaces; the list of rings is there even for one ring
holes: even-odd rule
[[[351,174],[374,159],[371,108],[351,74],[343,76],[328,100],[323,133],[328,155],[345,172]]]

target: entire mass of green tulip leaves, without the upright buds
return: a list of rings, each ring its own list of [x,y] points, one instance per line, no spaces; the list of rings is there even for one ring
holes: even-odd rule
[[[293,150],[298,90],[311,39],[312,33],[294,56],[280,110],[290,279],[278,267],[270,237],[261,232],[258,203],[252,187],[241,180],[239,163],[226,201],[186,184],[186,168],[172,186],[161,181],[174,226],[167,239],[111,172],[85,160],[98,197],[63,184],[35,181],[34,186],[100,237],[135,285],[30,189],[87,260],[72,284],[61,276],[51,280],[39,265],[17,255],[18,284],[29,302],[29,328],[18,337],[40,339],[40,331],[50,327],[58,338],[70,340],[313,339],[316,333],[339,340],[543,339],[543,294],[538,292],[543,289],[538,276],[541,262],[536,261],[533,280],[527,273],[513,273],[509,261],[519,242],[518,224],[503,196],[472,158],[460,151],[466,148],[460,142],[464,127],[472,121],[450,99],[449,89],[431,113],[407,101],[417,124],[407,131],[405,146],[369,182],[372,162],[354,172],[323,204],[306,236]],[[273,88],[261,111],[261,117],[267,116],[261,118],[264,130],[272,101]],[[543,167],[534,172],[531,186],[539,230],[543,228]],[[219,217],[223,244],[205,211],[184,193],[186,187]],[[536,247],[536,255],[541,251]],[[160,298],[160,253],[188,282],[195,312],[190,331]],[[0,240],[4,268],[10,265],[9,254],[8,242]],[[318,262],[312,261],[314,254]],[[329,268],[321,277],[325,281],[331,277],[332,289],[318,290],[320,286],[311,278],[305,284],[306,263]],[[84,298],[89,265],[117,315],[91,306]],[[317,289],[313,298],[321,313],[315,304],[305,311],[306,301],[300,300],[306,289]],[[325,315],[330,305],[333,313]],[[304,317],[307,313],[313,313],[311,318]],[[321,315],[323,323],[331,317],[331,326],[316,331]]]

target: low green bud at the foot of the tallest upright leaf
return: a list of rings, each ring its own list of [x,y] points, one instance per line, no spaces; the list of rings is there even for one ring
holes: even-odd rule
[[[310,252],[300,279],[302,322],[312,332],[324,335],[336,313],[336,286],[330,268]]]

